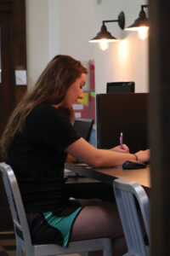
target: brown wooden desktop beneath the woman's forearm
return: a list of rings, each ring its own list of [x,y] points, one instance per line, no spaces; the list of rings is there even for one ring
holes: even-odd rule
[[[90,166],[81,166],[80,164],[75,165],[66,163],[65,168],[110,185],[112,185],[115,178],[119,177],[139,183],[146,188],[151,187],[149,166],[144,169],[123,170],[122,167],[94,168]]]

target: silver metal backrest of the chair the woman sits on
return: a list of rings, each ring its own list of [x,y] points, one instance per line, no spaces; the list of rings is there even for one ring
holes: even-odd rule
[[[21,200],[20,189],[14,176],[14,172],[10,166],[5,163],[0,163],[4,188],[8,197],[8,204],[11,210],[14,232],[16,240],[21,240],[21,244],[25,250],[31,251],[31,236],[26,220],[26,212]],[[26,241],[26,242],[25,242]]]

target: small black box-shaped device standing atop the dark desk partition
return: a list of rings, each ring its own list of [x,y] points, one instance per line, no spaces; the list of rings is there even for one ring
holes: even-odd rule
[[[111,82],[106,84],[107,93],[134,92],[134,82]]]

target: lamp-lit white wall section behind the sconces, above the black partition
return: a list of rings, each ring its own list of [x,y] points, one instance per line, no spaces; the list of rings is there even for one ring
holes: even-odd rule
[[[144,1],[100,0],[95,2],[96,31],[102,20],[117,20],[121,11],[125,14],[125,26],[138,18],[140,5]],[[96,92],[105,93],[106,83],[115,81],[134,81],[136,92],[148,91],[148,40],[138,38],[137,32],[125,32],[117,22],[106,23],[107,29],[121,41],[111,43],[109,49],[95,48]]]

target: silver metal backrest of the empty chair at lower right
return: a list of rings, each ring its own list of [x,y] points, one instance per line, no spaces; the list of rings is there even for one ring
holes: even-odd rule
[[[141,220],[139,219],[140,210],[150,243],[150,201],[148,196],[139,183],[128,182],[120,178],[113,182],[113,188],[129,255],[148,256],[149,247],[145,245]]]

